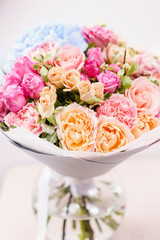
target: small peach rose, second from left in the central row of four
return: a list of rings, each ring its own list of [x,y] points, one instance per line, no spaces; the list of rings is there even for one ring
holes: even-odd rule
[[[77,90],[77,84],[80,82],[79,71],[72,69],[65,72],[61,77],[61,83],[66,88],[66,91]]]

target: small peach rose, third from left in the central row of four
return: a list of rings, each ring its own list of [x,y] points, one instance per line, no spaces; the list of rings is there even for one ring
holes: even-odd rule
[[[91,101],[95,96],[95,90],[93,85],[89,80],[80,81],[78,83],[78,90],[80,94],[80,99],[84,102]]]

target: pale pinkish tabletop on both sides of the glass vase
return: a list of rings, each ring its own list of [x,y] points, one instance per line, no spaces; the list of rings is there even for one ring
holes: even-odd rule
[[[37,163],[8,170],[0,198],[0,239],[35,239],[32,192],[42,168]],[[160,159],[128,159],[114,171],[125,187],[127,209],[112,240],[159,240]]]

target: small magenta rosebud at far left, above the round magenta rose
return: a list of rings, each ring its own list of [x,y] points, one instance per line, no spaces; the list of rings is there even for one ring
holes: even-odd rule
[[[22,79],[15,71],[11,71],[4,76],[3,88],[6,89],[9,85],[18,84],[21,85]]]

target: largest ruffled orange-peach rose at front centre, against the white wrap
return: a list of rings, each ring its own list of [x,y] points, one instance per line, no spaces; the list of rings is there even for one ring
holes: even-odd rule
[[[94,151],[97,118],[95,112],[72,103],[55,115],[58,137],[64,149]]]

